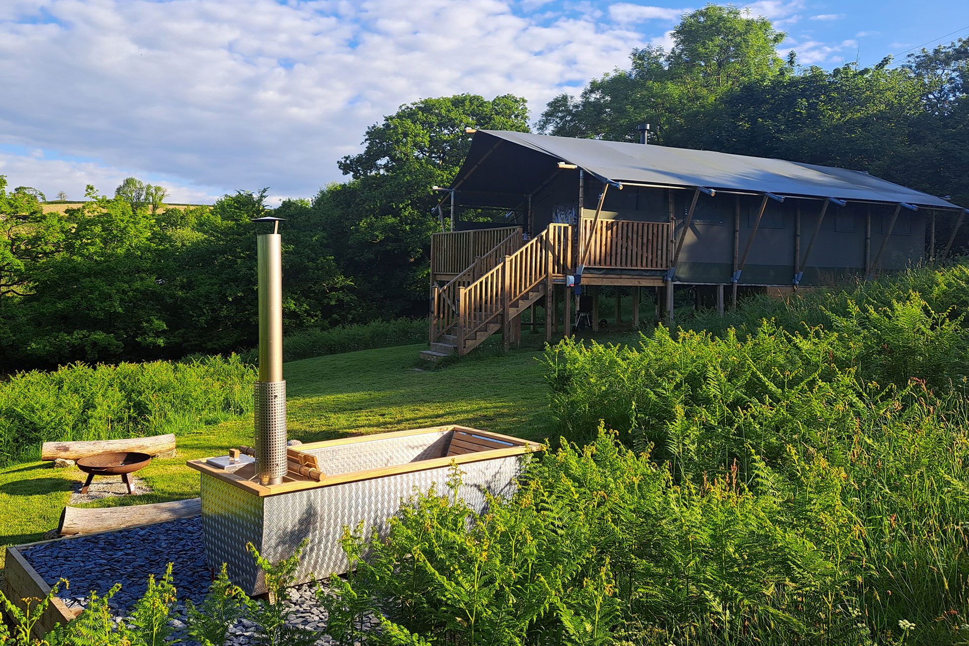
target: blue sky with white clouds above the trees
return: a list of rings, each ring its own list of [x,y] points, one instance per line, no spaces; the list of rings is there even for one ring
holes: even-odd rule
[[[873,65],[969,37],[966,0],[757,0],[802,65]],[[462,92],[552,97],[670,46],[703,3],[0,0],[0,174],[53,200],[124,177],[210,203],[310,198],[367,126]],[[270,205],[271,205],[270,201]]]

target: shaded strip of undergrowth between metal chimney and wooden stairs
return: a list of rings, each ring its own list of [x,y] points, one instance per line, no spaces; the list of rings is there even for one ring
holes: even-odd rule
[[[283,361],[406,346],[426,340],[427,321],[425,319],[377,320],[328,329],[309,328],[287,334],[283,338]],[[242,358],[249,363],[255,363],[259,358],[259,351],[255,349],[247,351],[242,354]]]

